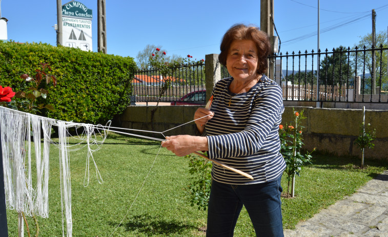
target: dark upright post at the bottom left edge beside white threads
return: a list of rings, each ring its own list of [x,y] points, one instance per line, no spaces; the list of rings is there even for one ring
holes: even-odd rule
[[[0,130],[0,134],[1,134],[1,130]],[[0,236],[8,237],[7,209],[6,209],[6,198],[5,198],[5,188],[4,188],[3,150],[2,150],[1,136],[0,136]]]

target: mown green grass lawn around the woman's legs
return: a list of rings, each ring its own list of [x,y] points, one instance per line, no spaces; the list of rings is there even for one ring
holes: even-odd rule
[[[109,134],[102,148],[93,154],[104,179],[99,184],[90,164],[90,184],[84,187],[87,150],[70,152],[73,236],[204,236],[198,230],[206,226],[206,211],[191,207],[186,200],[189,184],[188,159],[160,149],[155,164],[136,202],[132,205],[160,143]],[[62,236],[58,149],[51,147],[49,180],[49,218],[38,218],[39,236]],[[284,228],[294,228],[320,209],[351,195],[377,174],[388,169],[387,162],[313,153],[313,164],[305,166],[296,178],[296,197],[282,199]],[[283,191],[287,180],[282,179]],[[129,211],[128,211],[129,210]],[[7,210],[9,236],[17,236],[17,213]],[[28,218],[32,234],[33,220]],[[25,232],[25,236],[27,233]],[[254,236],[246,210],[242,210],[235,236]]]

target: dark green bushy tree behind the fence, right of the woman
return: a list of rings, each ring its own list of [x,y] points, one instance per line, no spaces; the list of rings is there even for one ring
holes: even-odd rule
[[[322,60],[320,62],[319,80],[321,84],[335,85],[344,84],[349,78],[353,78],[354,67],[350,60],[348,52],[350,48],[346,49],[343,46],[333,48],[333,52],[322,52]],[[326,54],[327,53],[327,54]],[[349,56],[349,62],[348,62]]]

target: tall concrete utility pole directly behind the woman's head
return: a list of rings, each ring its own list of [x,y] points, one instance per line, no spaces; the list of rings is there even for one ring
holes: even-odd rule
[[[260,30],[266,32],[271,39],[272,53],[274,54],[274,24],[272,21],[273,18],[273,9],[274,0],[260,0]],[[274,62],[269,61],[269,72],[271,72],[271,79],[275,80],[274,77]]]

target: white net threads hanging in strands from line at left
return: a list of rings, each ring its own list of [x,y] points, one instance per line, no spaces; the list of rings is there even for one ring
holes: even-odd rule
[[[108,132],[101,132],[102,125],[65,122],[19,112],[0,106],[0,126],[3,148],[4,184],[8,209],[24,212],[27,216],[49,216],[49,157],[50,144],[59,148],[60,195],[62,206],[63,236],[72,236],[70,155],[72,150],[87,147],[84,186],[89,184],[89,163],[93,161],[99,183],[99,173],[93,152],[101,148]],[[109,127],[110,121],[107,123]],[[51,128],[58,128],[58,142],[51,139]],[[82,132],[77,136],[69,134],[69,127]],[[43,149],[42,134],[43,133]],[[31,136],[33,139],[31,139]],[[69,145],[69,138],[78,143]],[[32,146],[33,143],[33,146]],[[85,143],[83,145],[83,143]],[[33,149],[32,149],[33,147]],[[32,152],[34,150],[34,152]],[[36,174],[32,173],[35,158]],[[36,176],[36,179],[33,177]],[[33,180],[36,180],[33,182]]]

